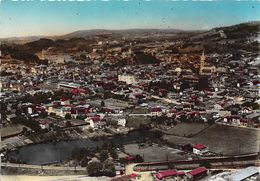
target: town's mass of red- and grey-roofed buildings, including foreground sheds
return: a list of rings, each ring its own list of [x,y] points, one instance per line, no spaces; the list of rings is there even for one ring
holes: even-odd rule
[[[183,122],[260,127],[259,69],[250,55],[238,60],[232,54],[204,52],[178,57],[169,49],[178,42],[156,44],[122,47],[118,41],[100,41],[90,53],[38,52],[49,65],[1,64],[2,127],[18,123],[39,132],[80,127],[127,133],[133,129],[129,118],[138,116],[152,119],[152,126],[160,129]],[[149,53],[160,63],[136,64],[136,51]],[[121,59],[124,66],[117,65]],[[198,143],[191,152],[202,156],[209,149]],[[199,167],[158,171],[153,177],[197,180],[208,173]],[[256,174],[248,168],[228,178],[236,181]]]

